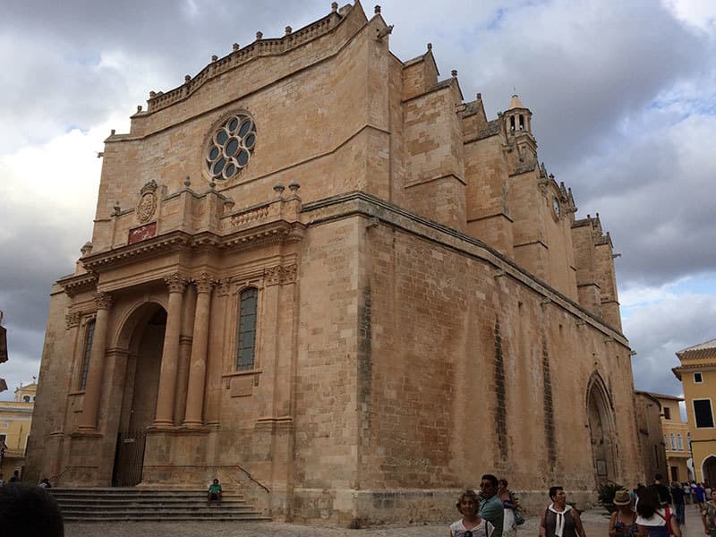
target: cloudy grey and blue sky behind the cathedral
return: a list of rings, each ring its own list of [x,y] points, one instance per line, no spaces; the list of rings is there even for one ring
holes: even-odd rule
[[[615,251],[636,388],[679,394],[674,353],[716,337],[716,2],[379,0],[403,60],[428,41],[490,117],[513,87],[540,156],[599,212]],[[365,4],[369,15],[373,4]],[[12,397],[39,368],[51,283],[90,239],[102,140],[257,30],[321,0],[5,0],[0,18],[0,310]]]

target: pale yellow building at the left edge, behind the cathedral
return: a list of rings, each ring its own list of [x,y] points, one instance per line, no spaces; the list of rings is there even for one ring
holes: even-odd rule
[[[0,459],[0,473],[9,481],[15,470],[22,471],[25,464],[32,408],[35,406],[36,383],[15,389],[14,401],[0,401],[0,448],[4,447]]]

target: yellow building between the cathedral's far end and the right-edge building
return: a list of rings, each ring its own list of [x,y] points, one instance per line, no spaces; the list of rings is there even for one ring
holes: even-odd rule
[[[681,420],[678,404],[681,397],[652,393],[661,403],[661,429],[663,430],[666,464],[669,481],[686,482],[690,479],[686,461],[691,457],[688,448],[688,423]],[[652,476],[647,476],[652,477]]]

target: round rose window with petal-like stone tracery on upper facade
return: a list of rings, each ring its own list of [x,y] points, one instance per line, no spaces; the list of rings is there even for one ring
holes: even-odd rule
[[[207,171],[212,181],[226,181],[249,163],[256,146],[256,124],[245,114],[231,115],[209,140]]]

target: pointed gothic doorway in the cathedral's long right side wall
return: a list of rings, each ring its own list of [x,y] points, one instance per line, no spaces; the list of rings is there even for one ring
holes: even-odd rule
[[[614,465],[614,426],[609,395],[601,377],[592,375],[587,388],[587,418],[592,444],[592,464],[598,485],[613,482],[616,476]]]

